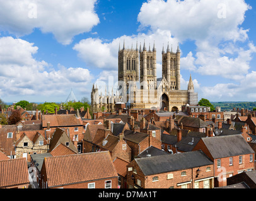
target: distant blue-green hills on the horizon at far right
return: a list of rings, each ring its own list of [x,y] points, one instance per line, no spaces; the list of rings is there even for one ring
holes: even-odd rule
[[[232,111],[233,108],[243,108],[252,111],[256,107],[256,102],[211,102],[216,107],[221,107],[221,111]]]

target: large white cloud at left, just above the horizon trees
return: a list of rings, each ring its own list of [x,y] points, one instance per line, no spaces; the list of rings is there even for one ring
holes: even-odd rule
[[[89,92],[93,76],[88,69],[58,65],[48,70],[49,63],[36,60],[38,47],[28,41],[12,37],[0,38],[1,97],[8,95],[49,95],[56,97],[74,87],[81,94]]]

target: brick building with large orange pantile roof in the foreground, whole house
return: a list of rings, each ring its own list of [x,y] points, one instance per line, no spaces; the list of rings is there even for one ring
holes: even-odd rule
[[[44,159],[40,188],[118,188],[108,151]]]

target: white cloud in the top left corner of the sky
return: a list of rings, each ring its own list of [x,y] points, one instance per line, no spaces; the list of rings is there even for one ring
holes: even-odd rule
[[[0,0],[0,30],[23,36],[40,28],[67,45],[74,36],[91,31],[99,23],[95,3],[96,0]]]

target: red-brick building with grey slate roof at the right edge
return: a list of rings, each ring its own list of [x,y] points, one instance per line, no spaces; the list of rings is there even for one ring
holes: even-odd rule
[[[214,161],[214,186],[226,186],[226,178],[255,169],[255,152],[241,134],[201,138],[194,147]]]

